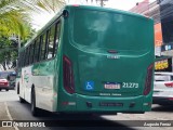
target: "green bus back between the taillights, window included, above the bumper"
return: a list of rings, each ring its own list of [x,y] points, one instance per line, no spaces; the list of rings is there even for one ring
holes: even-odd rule
[[[74,10],[69,48],[71,44],[72,51],[77,51],[71,57],[78,63],[74,67],[78,68],[80,77],[76,92],[118,96],[143,94],[147,67],[154,61],[154,46],[148,48],[154,42],[150,37],[152,21],[118,12]],[[106,86],[111,83],[115,89]]]

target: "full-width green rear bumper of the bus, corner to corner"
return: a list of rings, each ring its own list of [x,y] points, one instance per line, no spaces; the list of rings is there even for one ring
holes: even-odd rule
[[[146,100],[147,99],[147,100]],[[62,100],[63,101],[63,100]],[[61,101],[61,102],[62,102]],[[61,103],[59,102],[59,103]],[[63,101],[65,102],[65,101]],[[68,103],[57,109],[61,112],[76,113],[136,113],[142,114],[151,109],[151,96],[106,98],[86,96],[76,94]]]

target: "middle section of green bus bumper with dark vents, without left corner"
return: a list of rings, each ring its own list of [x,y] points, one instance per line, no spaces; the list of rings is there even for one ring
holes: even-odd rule
[[[143,108],[144,96],[132,98],[104,98],[78,95],[78,110],[102,110],[102,112],[145,112]]]

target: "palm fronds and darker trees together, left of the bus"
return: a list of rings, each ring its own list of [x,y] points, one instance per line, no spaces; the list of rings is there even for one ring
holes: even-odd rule
[[[24,46],[37,31],[31,14],[58,11],[64,0],[0,0],[0,69],[16,67],[18,42]]]

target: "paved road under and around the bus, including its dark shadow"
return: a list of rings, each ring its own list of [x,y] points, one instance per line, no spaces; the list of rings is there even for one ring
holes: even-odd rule
[[[9,113],[9,114],[8,114]],[[159,120],[173,120],[173,107],[172,106],[159,106],[159,105],[152,105],[152,110],[148,112],[146,114],[118,114],[118,115],[105,115],[105,116],[82,116],[82,115],[57,115],[57,114],[51,114],[48,112],[42,112],[41,117],[34,117],[30,114],[30,104],[21,104],[18,101],[18,96],[13,90],[10,90],[9,92],[2,91],[0,92],[0,120],[10,120],[11,118],[13,120],[55,120],[57,123],[59,123],[59,119],[64,120],[84,120],[84,122],[88,125],[92,120],[99,120],[101,122],[106,122],[107,125],[120,125],[123,129],[128,130],[172,130],[173,127],[155,127],[155,128],[144,128],[144,127],[130,127],[131,120],[152,120],[154,122],[158,122]],[[129,120],[129,121],[122,121],[122,120]],[[141,121],[142,122],[142,121]],[[134,123],[134,122],[132,122]],[[137,123],[137,121],[136,121]],[[134,125],[135,126],[135,125]],[[19,130],[81,130],[81,128],[70,128],[70,127],[61,127],[61,128],[18,128]],[[88,128],[82,127],[82,130],[89,130],[89,129],[99,129],[99,130],[115,130],[115,127],[99,127],[95,126],[94,128]],[[118,129],[118,128],[116,128]],[[14,130],[14,128],[0,128],[0,130]],[[15,128],[17,130],[17,128]]]

